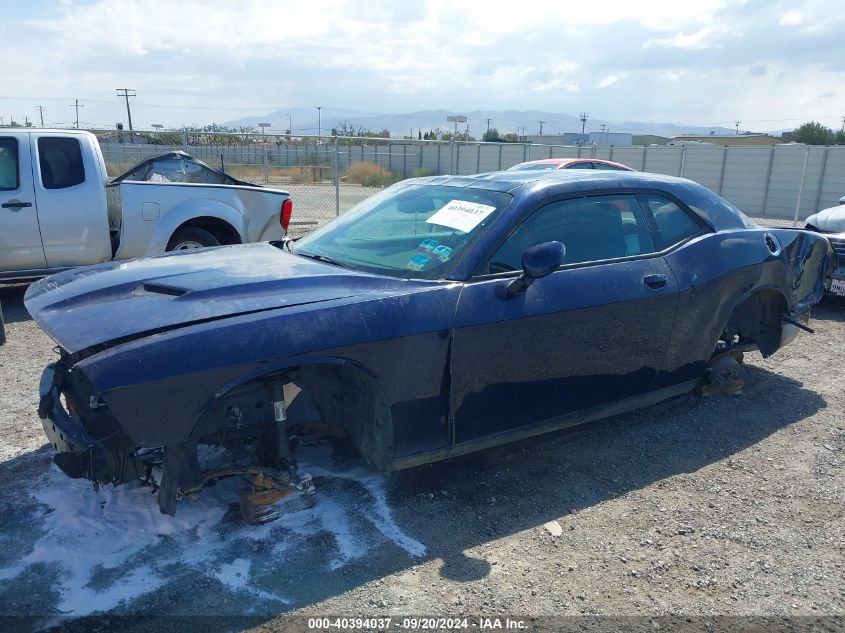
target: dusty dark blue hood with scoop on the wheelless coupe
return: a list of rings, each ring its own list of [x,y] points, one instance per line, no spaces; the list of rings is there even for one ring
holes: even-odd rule
[[[75,353],[239,314],[395,294],[408,282],[347,270],[270,244],[184,251],[78,268],[42,279],[25,303]]]

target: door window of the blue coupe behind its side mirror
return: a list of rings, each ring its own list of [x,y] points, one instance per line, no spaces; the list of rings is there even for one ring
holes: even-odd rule
[[[562,242],[566,247],[564,264],[655,252],[634,196],[575,198],[535,211],[490,258],[489,272],[521,270],[522,254],[527,248],[551,241]]]

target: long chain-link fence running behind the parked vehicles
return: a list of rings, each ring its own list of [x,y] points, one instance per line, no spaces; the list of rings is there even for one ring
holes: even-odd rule
[[[96,131],[95,131],[96,132]],[[397,180],[498,171],[527,160],[601,158],[695,180],[749,215],[806,218],[845,194],[845,146],[561,146],[197,132],[96,132],[115,176],[183,150],[248,182],[287,190],[292,233],[343,213]]]

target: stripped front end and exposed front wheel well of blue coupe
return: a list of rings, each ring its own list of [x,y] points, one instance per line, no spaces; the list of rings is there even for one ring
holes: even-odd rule
[[[56,451],[54,462],[68,477],[90,480],[95,489],[141,481],[157,493],[161,512],[170,515],[178,500],[229,477],[243,479],[238,507],[249,523],[314,505],[314,484],[298,470],[288,425],[285,392],[295,399],[298,389],[285,377],[269,377],[228,398],[225,410],[209,412],[213,423],[201,437],[141,448],[74,364],[76,355],[59,352],[59,361],[42,374],[38,415]],[[201,465],[201,445],[225,449],[227,459]]]

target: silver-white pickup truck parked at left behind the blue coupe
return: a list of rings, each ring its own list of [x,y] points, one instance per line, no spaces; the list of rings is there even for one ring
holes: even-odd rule
[[[90,132],[0,128],[0,282],[277,240],[291,210],[287,192],[241,182],[181,152],[109,182]]]

